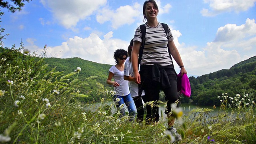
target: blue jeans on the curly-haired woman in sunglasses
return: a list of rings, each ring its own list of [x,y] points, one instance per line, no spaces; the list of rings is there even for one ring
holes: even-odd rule
[[[120,99],[119,102],[117,101],[117,98]],[[125,115],[125,109],[124,109],[124,107],[120,108],[120,105],[125,104],[128,108],[128,111],[129,111],[130,120],[134,121],[134,118],[135,118],[135,115],[136,115],[136,106],[134,104],[134,101],[132,99],[131,94],[128,94],[126,96],[114,95],[114,102],[116,103],[116,108],[118,110],[120,110],[120,113],[122,114],[122,116]]]

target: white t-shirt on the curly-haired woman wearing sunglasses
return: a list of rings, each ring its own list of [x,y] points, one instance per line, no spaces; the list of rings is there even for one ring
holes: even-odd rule
[[[120,86],[114,87],[114,91],[118,96],[126,96],[130,94],[129,83],[127,80],[124,80],[124,71],[120,71],[116,66],[111,66],[109,72],[114,74],[114,81],[117,82]]]

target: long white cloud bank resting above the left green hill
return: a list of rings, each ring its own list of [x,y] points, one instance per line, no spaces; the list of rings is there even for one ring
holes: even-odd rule
[[[100,39],[95,33],[91,33],[87,38],[80,38],[78,36],[69,38],[66,42],[62,42],[60,46],[47,46],[47,57],[79,57],[84,60],[114,65],[114,51],[118,48],[126,50],[129,42],[114,39],[112,38],[112,34],[113,32],[108,32],[104,35],[104,39]],[[30,44],[34,46],[33,40],[30,40]],[[42,51],[40,48],[37,50],[39,52]]]

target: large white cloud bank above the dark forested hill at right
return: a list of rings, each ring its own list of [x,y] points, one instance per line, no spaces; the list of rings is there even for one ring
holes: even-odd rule
[[[213,42],[202,50],[197,47],[178,46],[182,60],[189,74],[202,75],[234,64],[256,54],[256,23],[247,19],[245,24],[226,24],[220,27]],[[200,70],[200,71],[198,71]]]

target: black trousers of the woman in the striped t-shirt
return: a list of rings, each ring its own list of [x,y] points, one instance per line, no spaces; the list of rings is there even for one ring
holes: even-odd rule
[[[179,100],[180,96],[177,91],[177,74],[172,65],[170,66],[160,66],[166,71],[170,85],[168,87],[163,86],[161,82],[156,82],[152,80],[153,66],[141,65],[140,66],[140,79],[141,84],[139,84],[139,94],[144,90],[145,96],[142,96],[142,99],[146,105],[146,122],[157,122],[159,121],[159,92],[162,90],[165,94],[165,100],[167,101],[167,108],[165,110],[166,114],[171,112],[171,104]],[[161,78],[160,78],[161,79]],[[151,103],[154,101],[153,103]]]

